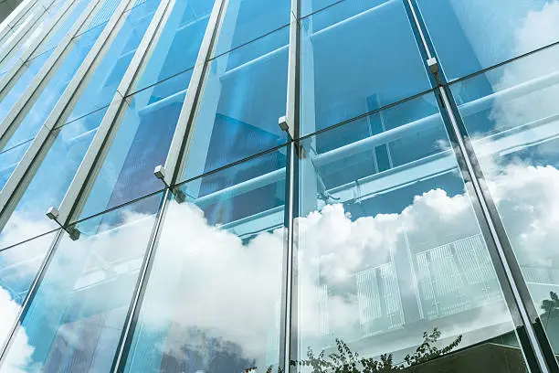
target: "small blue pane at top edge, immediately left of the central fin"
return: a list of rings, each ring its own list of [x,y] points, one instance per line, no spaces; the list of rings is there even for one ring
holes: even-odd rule
[[[260,1],[231,0],[221,26],[213,57],[222,55],[258,37],[290,23],[290,0]],[[264,43],[273,47],[277,38],[267,38]],[[267,48],[263,45],[264,48]]]

